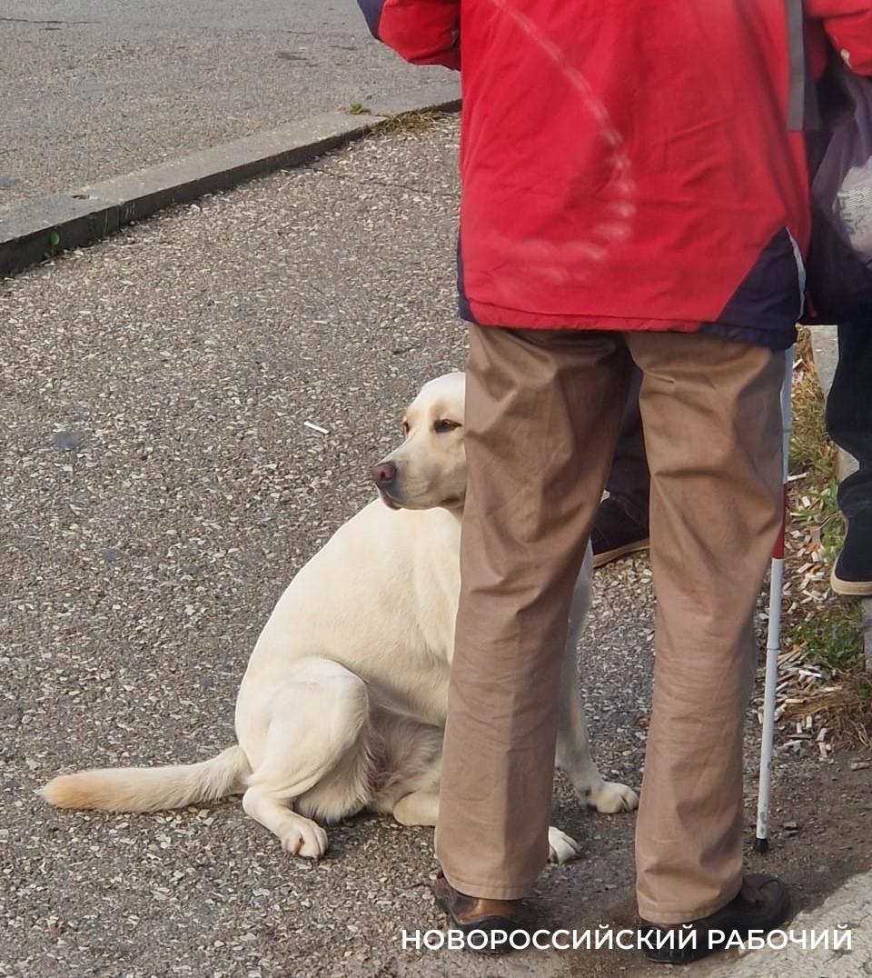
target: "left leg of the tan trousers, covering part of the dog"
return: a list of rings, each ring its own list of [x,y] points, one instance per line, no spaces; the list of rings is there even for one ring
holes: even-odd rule
[[[619,333],[471,329],[436,830],[448,881],[470,896],[525,896],[545,866],[569,604],[631,369]]]

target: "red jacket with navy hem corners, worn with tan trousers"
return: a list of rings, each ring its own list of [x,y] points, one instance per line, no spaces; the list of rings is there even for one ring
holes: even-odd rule
[[[799,2],[360,3],[407,60],[462,63],[467,318],[792,333],[809,230]],[[805,13],[872,73],[872,0]]]

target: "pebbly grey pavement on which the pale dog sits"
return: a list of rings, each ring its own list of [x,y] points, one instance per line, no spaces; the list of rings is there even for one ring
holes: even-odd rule
[[[441,923],[429,829],[359,818],[313,866],[238,799],[109,816],[32,794],[62,770],[233,741],[284,585],[371,498],[368,467],[419,384],[462,365],[456,152],[454,120],[371,138],[0,281],[0,974],[647,974],[626,953],[402,951],[402,927]],[[597,580],[581,651],[594,749],[637,785],[650,570]],[[850,834],[868,774],[779,767],[776,816],[798,827],[776,831],[768,865],[801,901],[868,862]],[[562,782],[555,805],[587,856],[546,870],[545,923],[632,921],[632,816],[580,812]]]

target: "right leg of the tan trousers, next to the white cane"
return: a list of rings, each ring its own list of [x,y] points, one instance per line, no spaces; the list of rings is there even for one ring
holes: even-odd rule
[[[636,822],[640,915],[680,923],[742,881],[753,616],[781,521],[784,357],[704,334],[628,336],[642,371],[657,595]]]

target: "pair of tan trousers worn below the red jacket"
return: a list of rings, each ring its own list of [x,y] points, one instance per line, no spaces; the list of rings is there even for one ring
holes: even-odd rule
[[[436,852],[471,896],[527,895],[547,858],[560,656],[634,362],[651,469],[654,701],[636,823],[645,919],[742,879],[755,602],[780,524],[784,359],[702,333],[472,327],[469,483]]]

